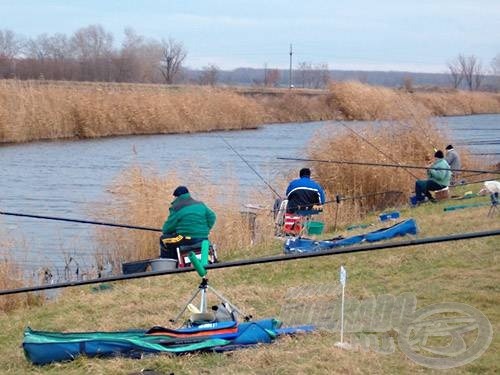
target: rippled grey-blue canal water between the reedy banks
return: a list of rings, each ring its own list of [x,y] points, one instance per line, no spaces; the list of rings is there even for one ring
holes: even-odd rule
[[[436,121],[449,129],[456,149],[467,147],[490,161],[500,161],[500,115]],[[367,123],[349,125],[356,128]],[[260,186],[269,195],[265,184],[224,140],[272,185],[276,178],[300,168],[299,164],[277,160],[278,156],[304,157],[313,137],[331,135],[341,128],[339,123],[328,121],[265,125],[244,131],[3,145],[0,211],[99,220],[89,216],[89,207],[103,202],[106,188],[131,165],[162,173],[185,171],[185,184],[196,170],[208,176],[214,186],[223,186],[230,170],[243,187]],[[23,270],[33,273],[48,267],[58,279],[64,279],[69,267],[85,269],[94,262],[96,244],[89,225],[0,215],[0,236],[14,242],[14,246],[0,248],[0,255],[2,250],[8,251]]]

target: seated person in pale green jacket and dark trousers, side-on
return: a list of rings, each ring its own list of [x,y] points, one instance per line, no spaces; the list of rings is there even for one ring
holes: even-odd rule
[[[427,170],[427,180],[417,180],[415,183],[415,195],[417,202],[423,202],[425,197],[434,201],[431,191],[441,190],[450,185],[450,165],[444,159],[443,151],[438,150],[434,154],[436,160]]]

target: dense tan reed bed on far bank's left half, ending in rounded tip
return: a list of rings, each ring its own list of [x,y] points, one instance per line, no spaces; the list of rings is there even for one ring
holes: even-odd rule
[[[245,129],[264,122],[229,90],[0,82],[0,142]]]

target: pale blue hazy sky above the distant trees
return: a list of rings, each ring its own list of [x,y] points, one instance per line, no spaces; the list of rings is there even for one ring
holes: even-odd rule
[[[458,54],[500,54],[500,0],[0,0],[0,29],[25,37],[99,24],[187,50],[185,65],[444,73]]]

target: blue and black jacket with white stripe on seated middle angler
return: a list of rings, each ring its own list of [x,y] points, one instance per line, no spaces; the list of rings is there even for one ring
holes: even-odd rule
[[[325,192],[320,184],[309,177],[293,180],[286,189],[288,212],[308,210],[314,204],[325,203]]]

